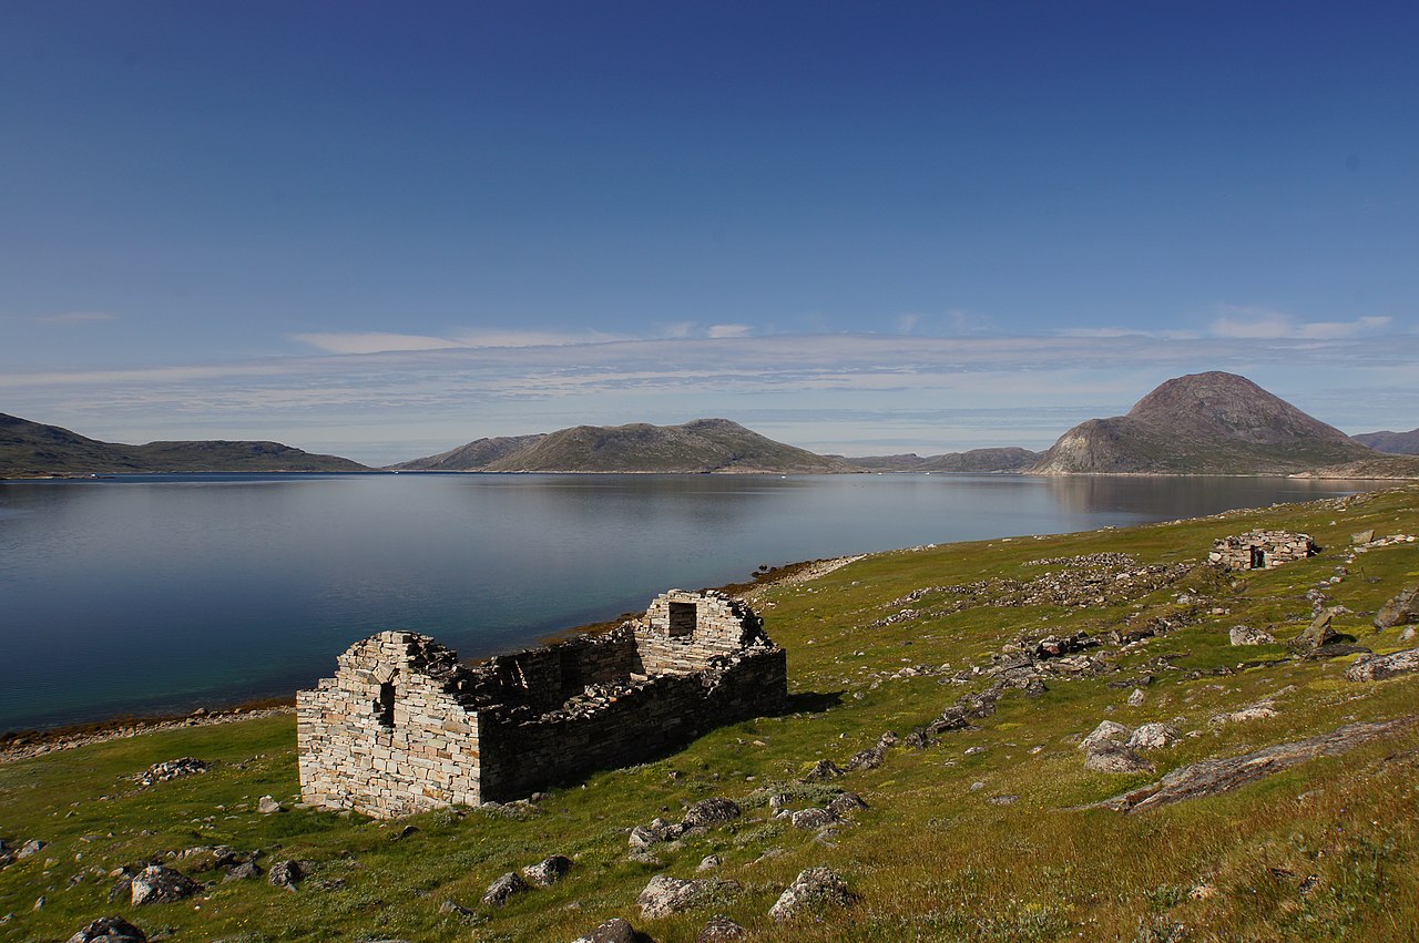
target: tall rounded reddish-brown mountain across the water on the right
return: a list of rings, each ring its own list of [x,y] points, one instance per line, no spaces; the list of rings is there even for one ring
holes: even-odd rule
[[[1381,458],[1235,373],[1168,380],[1128,411],[1064,433],[1029,471],[1264,475]]]

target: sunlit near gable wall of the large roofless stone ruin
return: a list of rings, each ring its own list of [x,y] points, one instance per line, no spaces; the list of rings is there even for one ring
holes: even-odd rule
[[[338,664],[335,678],[297,693],[302,801],[376,817],[481,801],[478,718],[455,696],[451,651],[380,632]]]

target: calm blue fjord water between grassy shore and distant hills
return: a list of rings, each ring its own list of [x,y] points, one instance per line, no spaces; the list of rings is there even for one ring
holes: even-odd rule
[[[385,628],[464,658],[761,563],[1164,520],[1362,484],[942,475],[0,482],[0,730],[285,695]]]

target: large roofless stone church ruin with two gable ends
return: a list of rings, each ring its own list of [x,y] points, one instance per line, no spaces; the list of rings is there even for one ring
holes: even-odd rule
[[[336,661],[297,693],[301,798],[376,818],[526,797],[788,698],[783,649],[717,591],[670,590],[612,632],[477,665],[410,631]]]

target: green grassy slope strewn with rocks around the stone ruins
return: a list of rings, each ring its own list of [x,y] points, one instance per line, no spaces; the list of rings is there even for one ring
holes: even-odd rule
[[[1249,574],[1236,588],[1196,577],[1192,591],[1210,596],[1200,610],[1179,604],[1175,594],[1185,587],[1174,586],[1088,608],[931,615],[922,606],[928,614],[921,620],[867,627],[901,608],[891,600],[920,587],[1032,579],[1042,567],[1026,566],[1029,560],[1103,550],[1127,550],[1145,563],[1198,560],[1213,537],[1256,525],[1307,530],[1327,549],[1308,562]],[[258,815],[260,796],[289,803],[297,794],[291,719],[149,735],[4,766],[0,837],[54,844],[0,872],[0,915],[16,915],[0,925],[0,940],[67,939],[104,913],[123,913],[149,933],[170,927],[177,940],[569,940],[614,915],[656,939],[692,940],[712,912],[749,926],[756,940],[1168,939],[1139,936],[1139,926],[1166,933],[1179,923],[1189,927],[1188,939],[1416,939],[1413,729],[1227,796],[1137,815],[1067,810],[1152,779],[1083,767],[1074,742],[1104,718],[1128,725],[1182,718],[1181,730],[1198,732],[1151,754],[1162,773],[1351,720],[1415,713],[1419,676],[1354,685],[1341,678],[1349,659],[1191,676],[1235,669],[1243,658],[1280,659],[1281,645],[1229,647],[1227,630],[1269,625],[1283,641],[1298,631],[1310,617],[1305,591],[1335,573],[1348,535],[1366,528],[1419,532],[1419,492],[1364,496],[1344,508],[1323,502],[1134,530],[897,552],[778,587],[761,611],[789,651],[795,691],[819,695],[799,703],[817,709],[724,727],[661,760],[555,788],[525,820],[433,813],[412,818],[419,831],[392,841],[406,822],[309,811]],[[1416,547],[1362,554],[1327,590],[1332,604],[1352,610],[1338,618],[1341,631],[1376,651],[1399,647],[1393,631],[1374,634],[1368,614],[1419,577]],[[1193,623],[1118,657],[1117,674],[1051,681],[1034,701],[1007,693],[976,729],[942,735],[924,750],[898,747],[883,767],[837,780],[871,808],[832,845],[768,820],[763,790],[776,780],[793,779],[819,757],[841,763],[887,729],[905,735],[961,693],[985,686],[884,679],[901,665],[949,662],[961,669],[986,662],[1025,630],[1101,631],[1159,614]],[[1156,672],[1141,706],[1125,703],[1128,688],[1108,686],[1137,678],[1145,661],[1164,654],[1175,655],[1182,671]],[[1274,718],[1209,723],[1218,712],[1288,685],[1296,689],[1277,696]],[[971,747],[983,749],[968,753]],[[142,791],[126,780],[149,763],[184,754],[219,764],[206,776]],[[973,783],[983,787],[972,791]],[[1020,798],[988,801],[1005,794]],[[627,861],[626,828],[661,814],[678,818],[683,803],[705,796],[729,796],[749,813],[683,848],[661,847],[660,866]],[[106,903],[109,879],[84,878],[67,888],[91,866],[217,842],[265,848],[265,864],[298,856],[321,868],[298,893],[264,881],[219,883],[206,899],[138,910]],[[761,859],[769,849],[780,854]],[[478,905],[495,876],[555,852],[578,861],[563,883],[514,899],[504,910]],[[663,920],[640,917],[634,898],[651,875],[695,876],[711,852],[724,858],[718,874],[744,885],[734,900]],[[820,864],[839,869],[860,902],[823,923],[772,925],[765,913],[779,891],[799,869]],[[1301,893],[1310,875],[1318,881]],[[342,883],[321,889],[322,881]],[[47,906],[34,912],[41,893]],[[478,915],[440,913],[447,899]]]

